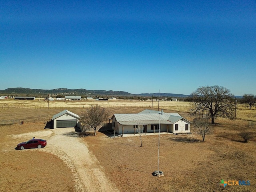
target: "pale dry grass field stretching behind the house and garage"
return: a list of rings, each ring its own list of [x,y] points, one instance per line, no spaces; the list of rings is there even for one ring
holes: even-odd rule
[[[74,112],[80,111],[83,108],[90,107],[91,105],[101,105],[110,108],[153,108],[158,109],[158,101],[139,101],[139,100],[108,100],[108,101],[96,101],[96,100],[81,100],[81,101],[44,101],[43,99],[36,100],[14,100],[14,99],[1,99],[0,110],[5,109],[69,109]],[[48,107],[49,106],[49,107]],[[190,102],[174,102],[174,101],[160,101],[159,108],[164,110],[171,110],[176,112],[188,112],[190,108]],[[15,111],[14,110],[14,111]],[[248,105],[237,105],[236,110],[237,118],[241,120],[252,120],[256,122],[256,107],[253,106],[249,110]],[[17,116],[10,116],[11,119],[18,119]],[[9,118],[9,117],[5,117]],[[52,118],[52,116],[46,117],[46,120]],[[22,119],[22,118],[21,118]],[[24,117],[23,117],[24,119]]]

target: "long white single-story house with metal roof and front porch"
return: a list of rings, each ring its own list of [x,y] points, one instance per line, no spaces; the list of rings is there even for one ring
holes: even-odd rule
[[[164,113],[154,110],[144,110],[138,114],[114,114],[112,116],[112,129],[117,134],[131,134],[136,132],[138,126],[142,133],[190,133],[189,120],[178,113]]]

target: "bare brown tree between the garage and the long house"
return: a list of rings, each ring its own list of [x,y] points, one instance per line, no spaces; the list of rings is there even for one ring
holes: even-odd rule
[[[97,127],[106,124],[106,120],[110,115],[111,112],[107,108],[100,105],[92,105],[80,114],[80,122],[83,127],[93,128],[94,135],[96,135]]]

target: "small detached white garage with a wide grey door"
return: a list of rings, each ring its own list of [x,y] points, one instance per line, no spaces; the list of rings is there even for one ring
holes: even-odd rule
[[[52,116],[53,128],[80,127],[80,117],[68,110]]]

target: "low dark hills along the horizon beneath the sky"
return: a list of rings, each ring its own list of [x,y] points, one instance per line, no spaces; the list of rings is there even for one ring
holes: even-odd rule
[[[188,97],[190,95],[185,94],[173,94],[173,93],[140,93],[131,94],[125,91],[113,91],[113,90],[86,90],[86,89],[68,89],[57,88],[51,90],[44,89],[30,89],[30,88],[7,88],[0,90],[0,94],[62,94],[62,95],[84,95],[84,96],[160,96],[160,97]]]

